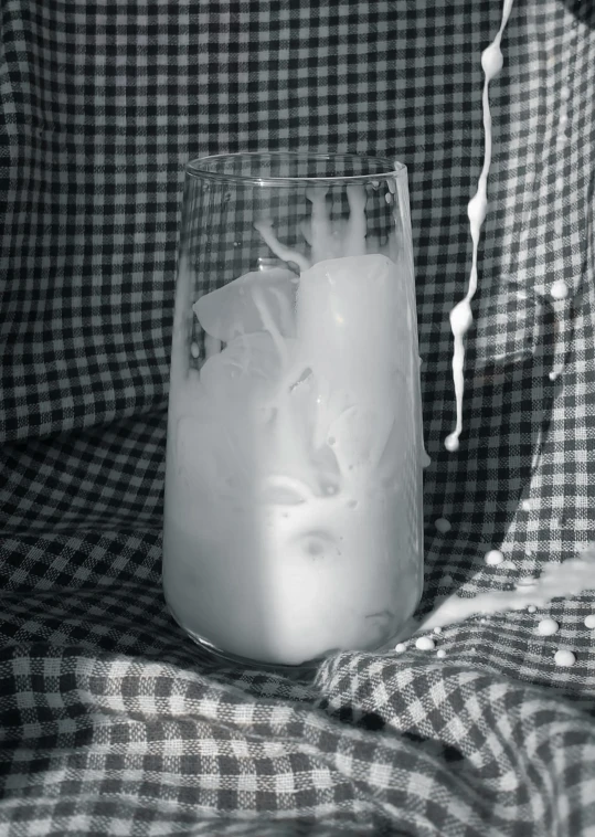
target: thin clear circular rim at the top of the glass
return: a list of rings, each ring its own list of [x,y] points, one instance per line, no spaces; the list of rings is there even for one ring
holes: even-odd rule
[[[241,158],[264,157],[268,159],[311,159],[311,160],[360,160],[378,163],[380,168],[385,169],[369,174],[338,174],[336,177],[275,177],[258,174],[235,174],[220,171],[210,171],[203,168],[205,163],[216,162],[217,160],[238,160]],[[289,187],[289,186],[338,186],[341,183],[370,183],[376,180],[399,178],[406,174],[407,167],[399,160],[390,160],[387,157],[374,157],[372,155],[354,153],[315,153],[310,151],[237,151],[233,153],[209,155],[205,157],[195,157],[185,165],[187,177],[196,180],[214,180],[220,183],[242,183],[243,186],[267,186],[267,187]]]

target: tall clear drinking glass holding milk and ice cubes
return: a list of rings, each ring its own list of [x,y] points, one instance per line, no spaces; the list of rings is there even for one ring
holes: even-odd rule
[[[187,167],[163,587],[243,664],[376,649],[423,581],[406,169],[252,153]]]

